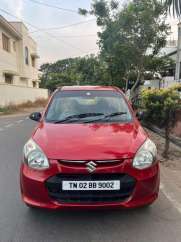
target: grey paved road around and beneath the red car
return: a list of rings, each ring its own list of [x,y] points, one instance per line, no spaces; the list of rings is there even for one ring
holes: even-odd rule
[[[23,144],[35,124],[0,118],[0,242],[181,242],[181,214],[164,194],[149,209],[31,211],[20,199]]]

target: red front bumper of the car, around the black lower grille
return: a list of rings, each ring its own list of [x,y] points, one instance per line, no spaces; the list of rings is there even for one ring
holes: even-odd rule
[[[135,180],[134,189],[124,200],[101,202],[60,202],[53,199],[48,191],[46,183],[48,179],[57,174],[90,175],[85,166],[72,166],[60,164],[56,160],[50,161],[50,168],[44,171],[33,170],[22,163],[20,171],[20,185],[23,201],[30,206],[47,209],[66,208],[135,208],[154,202],[158,197],[160,172],[158,162],[145,170],[136,170],[132,167],[132,161],[126,160],[116,165],[104,165],[96,169],[94,174],[113,175],[126,174]]]

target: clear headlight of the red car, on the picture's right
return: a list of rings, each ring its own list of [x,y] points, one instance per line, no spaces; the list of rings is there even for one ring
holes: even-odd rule
[[[133,159],[133,167],[139,170],[146,169],[153,165],[156,156],[156,145],[150,139],[147,139],[137,151]]]

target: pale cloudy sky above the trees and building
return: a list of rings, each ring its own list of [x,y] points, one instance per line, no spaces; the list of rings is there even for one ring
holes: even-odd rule
[[[73,11],[62,11],[36,2]],[[90,9],[91,2],[91,0],[0,0],[0,8],[17,18],[7,15],[1,10],[0,14],[9,21],[20,19],[24,21],[29,28],[30,35],[37,42],[39,63],[42,64],[68,57],[98,53],[97,32],[99,28],[95,18],[80,16],[76,13],[79,7]],[[82,23],[77,24],[80,22]],[[173,32],[169,39],[176,39],[177,20],[168,18],[168,22],[171,24]],[[68,25],[73,26],[68,27]],[[55,29],[50,30],[49,28]]]

